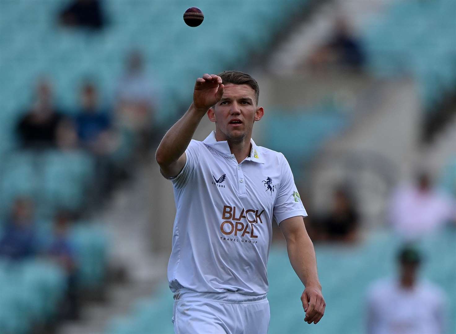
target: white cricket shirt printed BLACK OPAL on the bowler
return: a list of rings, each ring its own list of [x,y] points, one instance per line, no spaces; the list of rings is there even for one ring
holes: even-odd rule
[[[307,213],[284,155],[251,144],[250,157],[239,164],[215,132],[187,147],[184,168],[171,178],[177,209],[171,291],[268,292],[272,219]]]

